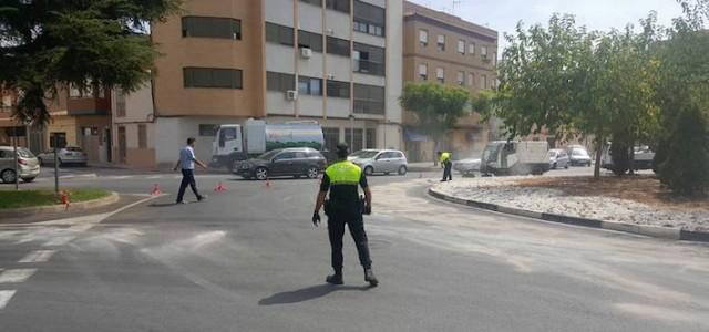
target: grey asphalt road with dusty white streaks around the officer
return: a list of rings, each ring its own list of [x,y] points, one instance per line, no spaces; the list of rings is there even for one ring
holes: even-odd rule
[[[228,190],[175,206],[175,175],[64,179],[173,195],[0,226],[0,331],[709,330],[709,246],[449,205],[424,194],[433,176],[370,179],[374,289],[349,235],[346,286],[325,284],[315,180],[203,175]]]

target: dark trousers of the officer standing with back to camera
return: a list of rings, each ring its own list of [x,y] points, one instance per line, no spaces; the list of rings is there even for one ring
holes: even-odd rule
[[[328,234],[330,236],[330,248],[332,249],[332,269],[335,272],[342,272],[342,237],[345,236],[345,225],[350,229],[350,235],[357,245],[359,253],[359,262],[364,269],[372,267],[372,260],[369,257],[369,245],[367,243],[367,234],[364,232],[364,220],[362,216],[357,214],[354,217],[333,216],[328,217]]]

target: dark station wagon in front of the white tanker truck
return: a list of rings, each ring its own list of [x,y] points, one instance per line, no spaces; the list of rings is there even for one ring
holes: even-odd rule
[[[276,176],[307,176],[317,178],[327,162],[317,149],[308,147],[280,148],[242,162],[232,169],[244,178],[265,180]]]

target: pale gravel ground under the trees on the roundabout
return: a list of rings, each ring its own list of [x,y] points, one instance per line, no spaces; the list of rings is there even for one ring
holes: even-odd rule
[[[515,186],[525,178],[527,177],[465,178],[438,184],[434,189],[461,199],[535,212],[709,231],[707,211],[678,212],[619,198],[569,196],[557,189]]]

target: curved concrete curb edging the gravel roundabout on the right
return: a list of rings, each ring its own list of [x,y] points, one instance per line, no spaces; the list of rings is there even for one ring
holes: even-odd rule
[[[544,221],[582,226],[582,227],[588,227],[588,228],[623,231],[623,232],[629,232],[629,234],[641,235],[641,236],[651,237],[651,238],[667,239],[667,240],[681,240],[681,241],[709,243],[709,232],[705,232],[705,231],[691,231],[691,230],[684,230],[684,229],[676,229],[676,228],[634,225],[634,224],[617,222],[617,221],[603,221],[597,219],[535,212],[530,210],[500,206],[500,205],[490,204],[490,203],[456,198],[453,196],[442,194],[433,188],[429,188],[429,195],[438,199],[442,199],[442,200],[454,203],[454,204],[465,205],[465,206],[470,206],[479,209],[491,210],[491,211],[506,214],[506,215],[514,215],[518,217],[526,217],[526,218],[540,219]]]

